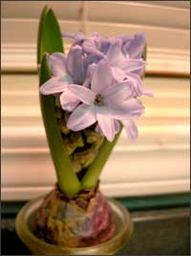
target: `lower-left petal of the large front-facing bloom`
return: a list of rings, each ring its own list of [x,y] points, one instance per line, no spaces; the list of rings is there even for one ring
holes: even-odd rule
[[[78,105],[69,117],[67,127],[76,131],[96,123],[96,113],[90,105]]]

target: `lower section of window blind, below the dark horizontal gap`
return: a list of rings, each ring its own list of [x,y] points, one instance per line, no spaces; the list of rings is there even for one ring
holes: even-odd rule
[[[55,182],[37,76],[3,75],[2,84],[2,197],[35,197]],[[103,170],[108,196],[189,190],[189,81],[145,78],[144,84],[155,98],[142,100],[147,107],[138,120],[138,141],[129,141],[123,131]]]

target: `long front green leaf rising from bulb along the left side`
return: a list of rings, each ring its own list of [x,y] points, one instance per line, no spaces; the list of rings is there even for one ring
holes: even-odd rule
[[[40,69],[40,84],[48,81],[50,78],[51,71],[46,55],[44,55]],[[52,95],[40,95],[40,105],[59,188],[68,196],[74,196],[80,190],[80,183],[74,174],[70,158],[62,143],[61,133],[55,117],[54,97]]]

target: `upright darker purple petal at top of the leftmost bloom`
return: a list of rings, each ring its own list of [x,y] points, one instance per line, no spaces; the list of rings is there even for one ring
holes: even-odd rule
[[[78,45],[71,48],[67,58],[67,68],[73,77],[74,83],[82,84],[85,78],[85,70],[82,57],[82,48]]]

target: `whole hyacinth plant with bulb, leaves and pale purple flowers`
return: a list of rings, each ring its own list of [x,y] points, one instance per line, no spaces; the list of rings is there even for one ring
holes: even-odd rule
[[[72,46],[64,53],[63,37]],[[52,244],[104,242],[115,221],[98,178],[124,127],[137,139],[134,122],[151,96],[142,87],[145,36],[108,37],[60,32],[53,11],[40,18],[37,64],[40,105],[57,175],[57,186],[36,213],[35,233]]]

